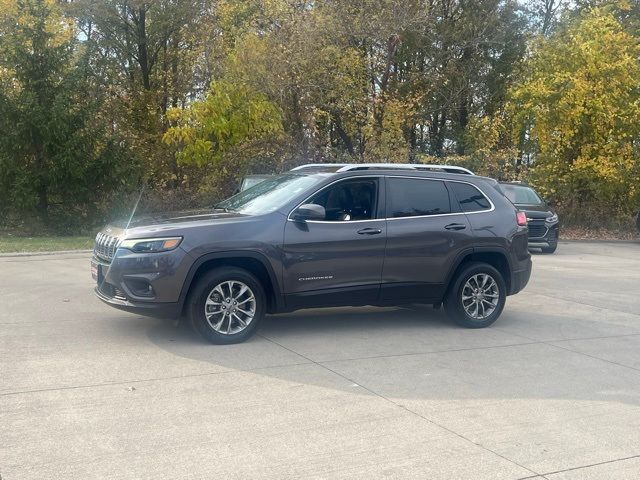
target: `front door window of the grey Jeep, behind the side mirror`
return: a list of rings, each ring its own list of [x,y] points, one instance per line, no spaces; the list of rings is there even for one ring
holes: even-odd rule
[[[325,220],[345,222],[375,218],[376,179],[345,180],[317,193],[305,203],[324,207]]]

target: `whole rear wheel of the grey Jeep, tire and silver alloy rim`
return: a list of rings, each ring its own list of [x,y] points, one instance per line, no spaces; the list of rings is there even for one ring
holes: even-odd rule
[[[473,262],[454,279],[444,301],[447,314],[467,328],[488,327],[495,322],[507,298],[507,287],[498,270]]]

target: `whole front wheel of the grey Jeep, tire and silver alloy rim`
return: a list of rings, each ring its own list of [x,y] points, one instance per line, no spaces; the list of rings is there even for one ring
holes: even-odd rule
[[[217,344],[239,343],[251,337],[265,311],[266,296],[260,281],[235,267],[207,272],[189,300],[194,330]]]

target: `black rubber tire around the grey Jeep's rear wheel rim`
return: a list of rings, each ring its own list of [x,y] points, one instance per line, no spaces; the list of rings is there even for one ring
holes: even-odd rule
[[[478,274],[489,275],[496,283],[498,292],[498,302],[493,312],[486,318],[477,319],[469,315],[462,304],[462,291],[467,281]],[[447,315],[455,320],[456,323],[467,328],[484,328],[495,322],[502,310],[507,299],[507,286],[498,270],[488,263],[472,262],[464,265],[453,279],[453,284],[449,288],[444,299],[444,308]]]

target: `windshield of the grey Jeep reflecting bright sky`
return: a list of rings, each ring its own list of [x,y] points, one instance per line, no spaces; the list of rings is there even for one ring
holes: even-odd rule
[[[215,208],[245,215],[274,212],[297,194],[321,181],[322,178],[317,176],[293,173],[278,175],[223,200]]]

